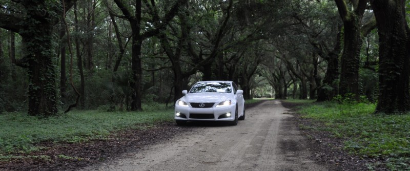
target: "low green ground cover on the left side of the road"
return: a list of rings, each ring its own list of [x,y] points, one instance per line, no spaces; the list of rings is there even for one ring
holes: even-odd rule
[[[147,129],[157,121],[173,121],[173,110],[165,105],[145,105],[143,112],[70,111],[49,118],[5,113],[0,115],[0,160],[14,152],[41,149],[33,145],[38,142],[76,143],[104,138],[128,127]]]

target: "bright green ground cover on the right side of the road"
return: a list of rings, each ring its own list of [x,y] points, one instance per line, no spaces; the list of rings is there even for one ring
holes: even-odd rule
[[[391,170],[410,170],[410,114],[376,115],[375,104],[320,102],[299,109],[321,121],[314,129],[343,138],[344,148],[359,156],[381,157]],[[369,163],[369,168],[380,163]]]

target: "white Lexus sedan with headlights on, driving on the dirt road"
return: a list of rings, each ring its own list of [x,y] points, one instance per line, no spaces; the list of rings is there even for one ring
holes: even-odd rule
[[[175,103],[175,122],[228,121],[245,119],[243,91],[233,81],[199,81]]]

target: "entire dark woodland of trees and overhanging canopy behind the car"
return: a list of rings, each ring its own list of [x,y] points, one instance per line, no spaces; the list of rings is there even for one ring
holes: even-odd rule
[[[407,13],[404,0],[0,0],[0,111],[140,111],[232,80],[247,99],[408,112]]]

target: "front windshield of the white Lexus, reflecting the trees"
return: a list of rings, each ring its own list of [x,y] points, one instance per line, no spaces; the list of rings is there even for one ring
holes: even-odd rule
[[[190,93],[231,93],[231,84],[229,82],[199,82],[194,85]]]

